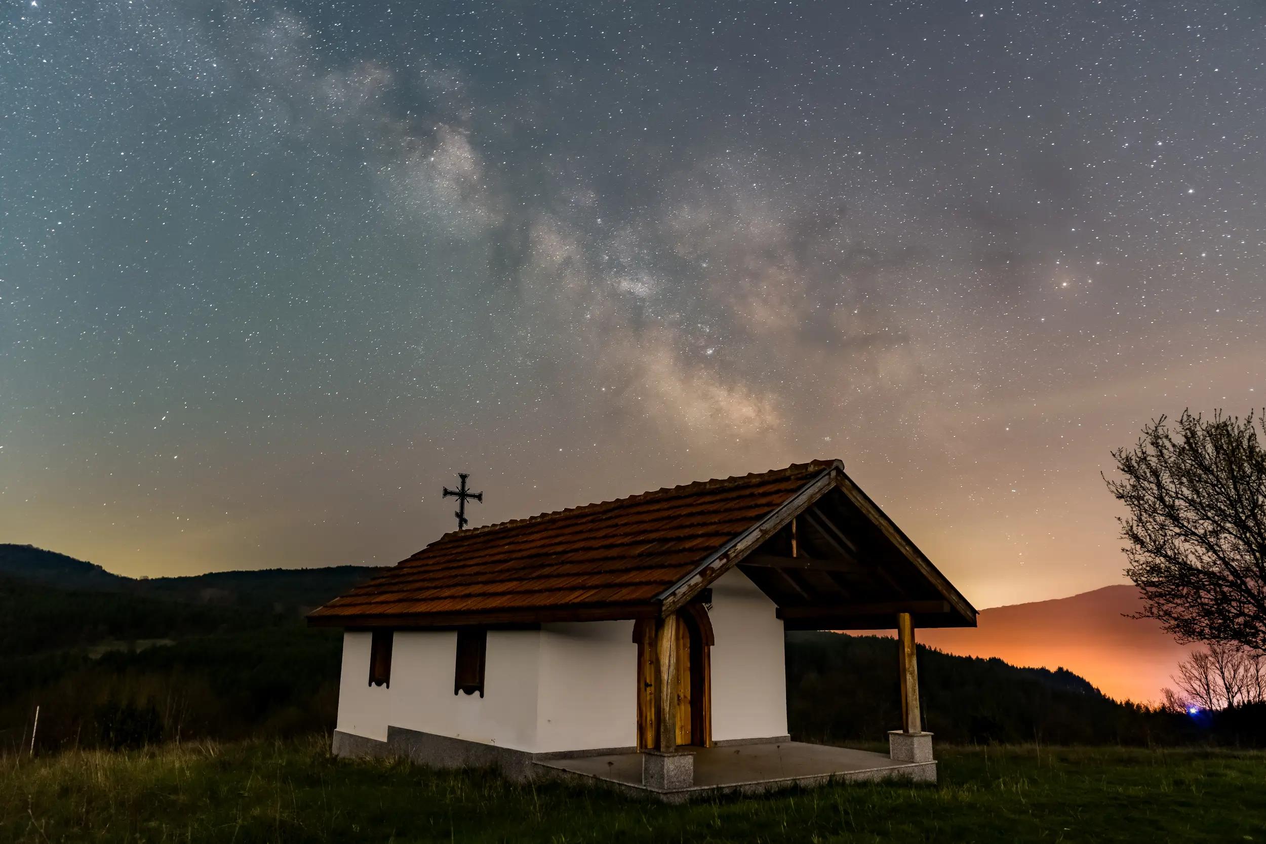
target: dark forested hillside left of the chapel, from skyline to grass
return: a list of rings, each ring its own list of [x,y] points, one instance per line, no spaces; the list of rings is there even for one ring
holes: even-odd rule
[[[305,572],[213,578],[242,596],[172,578],[184,583],[172,599],[163,581],[118,578],[23,545],[0,553],[8,554],[0,569],[18,574],[0,574],[0,749],[29,745],[37,706],[37,749],[332,728],[342,638],[309,630],[285,585],[311,606],[343,588],[329,580],[348,572],[314,569],[311,582]],[[57,588],[38,568],[42,559],[72,583],[109,588]],[[134,588],[148,583],[160,588]],[[200,593],[210,600],[199,602]]]

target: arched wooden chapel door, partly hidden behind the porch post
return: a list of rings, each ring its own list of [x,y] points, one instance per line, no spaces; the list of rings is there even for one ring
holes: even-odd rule
[[[690,605],[677,614],[675,633],[677,744],[711,747],[711,645],[708,611]],[[656,653],[656,621],[643,619],[633,626],[637,653],[637,740],[638,749],[658,744],[657,693],[660,667]]]

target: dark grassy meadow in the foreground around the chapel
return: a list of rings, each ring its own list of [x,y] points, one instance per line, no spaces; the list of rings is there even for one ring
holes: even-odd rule
[[[1266,841],[1266,753],[938,748],[942,785],[687,806],[348,762],[324,738],[0,759],[13,841]]]

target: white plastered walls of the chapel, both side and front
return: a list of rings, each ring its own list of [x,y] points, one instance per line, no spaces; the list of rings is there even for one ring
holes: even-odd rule
[[[782,621],[742,572],[713,583],[713,739],[786,735]],[[385,740],[387,725],[528,753],[637,744],[632,621],[489,630],[484,697],[453,693],[457,634],[398,630],[391,685],[370,686],[371,634],[343,636],[338,729]]]

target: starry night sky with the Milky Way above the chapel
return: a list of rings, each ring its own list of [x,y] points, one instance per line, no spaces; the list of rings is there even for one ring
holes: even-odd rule
[[[839,457],[977,606],[1266,404],[1266,6],[9,0],[0,540],[132,576]]]

